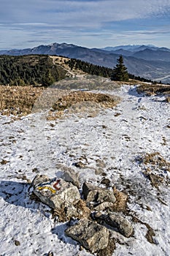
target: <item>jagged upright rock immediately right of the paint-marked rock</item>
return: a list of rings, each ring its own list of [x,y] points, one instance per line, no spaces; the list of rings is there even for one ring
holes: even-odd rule
[[[115,203],[116,201],[112,190],[96,187],[86,182],[82,186],[82,194],[88,206],[97,206],[104,202]]]

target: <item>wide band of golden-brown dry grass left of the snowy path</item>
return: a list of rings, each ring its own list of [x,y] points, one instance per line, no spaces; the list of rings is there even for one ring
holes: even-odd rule
[[[43,92],[43,93],[42,93]],[[29,113],[50,109],[47,119],[60,118],[67,113],[96,114],[103,108],[113,108],[119,97],[87,91],[68,91],[34,86],[0,86],[0,114],[26,116]],[[53,107],[53,108],[52,108]]]

